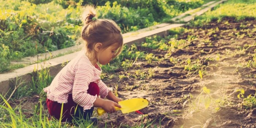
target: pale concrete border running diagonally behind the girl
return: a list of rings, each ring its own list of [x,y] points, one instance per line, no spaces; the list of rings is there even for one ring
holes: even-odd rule
[[[214,1],[211,1],[207,4],[204,4],[203,6],[207,6],[207,5],[209,5],[209,6],[194,13],[191,16],[181,18],[180,21],[188,22],[189,20],[193,19],[193,16],[201,15],[204,12],[212,9],[219,3],[223,3],[224,1],[227,1],[227,0],[221,0],[216,3],[214,3]],[[214,3],[214,4],[212,4],[212,3]],[[192,10],[185,12],[184,15],[186,15],[190,12],[192,12]],[[177,16],[173,19],[177,19],[179,17],[180,16]],[[128,46],[130,46],[131,44],[134,44],[134,43],[140,44],[141,42],[145,41],[146,37],[150,37],[152,35],[160,35],[160,36],[164,37],[169,34],[170,29],[175,28],[175,27],[180,27],[183,25],[185,25],[185,24],[162,23],[162,24],[159,24],[159,25],[156,25],[153,27],[148,27],[145,29],[138,30],[136,32],[125,33],[125,34],[123,34],[124,44],[127,44]],[[57,50],[57,51],[54,51],[51,53],[39,54],[38,56],[34,56],[34,57],[26,57],[26,58],[24,58],[24,60],[25,60],[24,62],[27,61],[28,63],[30,63],[32,61],[34,63],[35,61],[37,61],[37,57],[48,58],[48,57],[51,57],[52,55],[56,56],[57,54],[60,54],[60,53],[68,53],[68,52],[78,51],[80,47],[82,47],[82,45]],[[60,56],[60,57],[57,57],[54,59],[43,61],[38,64],[32,64],[32,65],[29,65],[24,68],[16,69],[12,72],[0,74],[0,94],[5,95],[7,93],[10,93],[11,91],[9,91],[9,90],[14,89],[14,87],[16,85],[23,84],[25,82],[31,82],[32,77],[36,75],[34,72],[34,69],[37,69],[37,71],[40,71],[41,69],[48,67],[50,69],[50,75],[55,76],[63,68],[61,65],[65,62],[69,62],[70,60],[72,60],[74,58],[74,56],[76,56],[77,54],[78,54],[78,52],[66,54],[64,56]]]

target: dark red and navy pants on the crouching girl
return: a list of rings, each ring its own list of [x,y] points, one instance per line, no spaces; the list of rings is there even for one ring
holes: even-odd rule
[[[96,83],[91,82],[87,93],[90,95],[99,95],[99,87]],[[51,116],[56,119],[60,119],[62,103],[46,99],[46,105]],[[76,111],[75,111],[76,110]],[[93,114],[94,107],[83,111],[83,107],[73,101],[72,94],[68,95],[68,102],[63,103],[63,114],[61,121],[71,121],[72,119],[85,119],[89,120]]]

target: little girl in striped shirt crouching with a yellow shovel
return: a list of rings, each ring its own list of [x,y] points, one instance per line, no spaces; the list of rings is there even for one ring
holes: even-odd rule
[[[123,48],[123,37],[113,20],[96,19],[95,14],[92,6],[87,6],[83,14],[81,37],[85,50],[74,57],[44,89],[51,116],[60,118],[63,103],[61,121],[84,118],[97,122],[97,118],[91,118],[94,107],[109,113],[116,111],[115,106],[121,107],[117,102],[122,99],[101,81],[102,71],[97,63],[105,65],[116,57]],[[105,97],[107,99],[103,99]]]

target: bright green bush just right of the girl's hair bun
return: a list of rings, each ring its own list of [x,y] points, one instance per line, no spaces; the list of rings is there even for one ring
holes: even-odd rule
[[[97,9],[99,18],[113,19],[123,32],[152,26],[154,23],[153,15],[147,9],[121,7],[117,2],[112,7],[107,2],[105,6],[98,6]]]

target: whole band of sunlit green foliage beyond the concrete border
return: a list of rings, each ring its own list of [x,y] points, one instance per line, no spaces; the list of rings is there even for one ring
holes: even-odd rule
[[[204,0],[0,0],[0,72],[10,61],[79,44],[83,6],[113,19],[123,33],[157,25]]]

